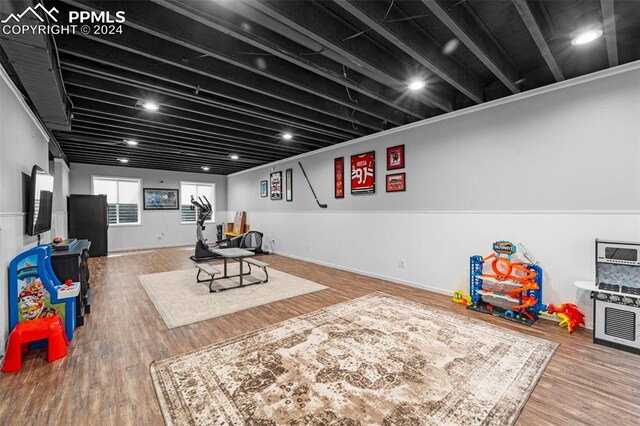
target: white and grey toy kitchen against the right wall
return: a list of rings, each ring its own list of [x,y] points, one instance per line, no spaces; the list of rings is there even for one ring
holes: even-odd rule
[[[640,242],[596,240],[593,343],[640,354]]]

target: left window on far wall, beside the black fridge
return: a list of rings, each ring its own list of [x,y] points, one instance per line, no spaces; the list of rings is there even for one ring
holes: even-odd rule
[[[106,195],[109,225],[140,224],[140,179],[93,178],[93,195]]]

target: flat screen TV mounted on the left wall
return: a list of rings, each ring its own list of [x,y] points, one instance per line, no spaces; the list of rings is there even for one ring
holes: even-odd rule
[[[31,171],[27,233],[42,234],[51,229],[53,209],[53,176],[38,166]]]

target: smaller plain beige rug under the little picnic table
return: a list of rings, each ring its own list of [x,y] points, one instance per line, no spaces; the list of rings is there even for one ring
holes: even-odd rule
[[[215,265],[222,271],[222,265]],[[325,286],[277,269],[268,268],[269,281],[233,290],[209,293],[207,283],[196,282],[197,268],[141,275],[138,280],[168,328],[216,318],[278,300],[324,290]],[[246,271],[246,265],[245,265]],[[237,262],[229,263],[229,274],[238,273]],[[200,278],[205,278],[200,274]],[[245,276],[245,283],[264,279],[259,268]],[[238,278],[216,280],[214,288],[237,285]]]

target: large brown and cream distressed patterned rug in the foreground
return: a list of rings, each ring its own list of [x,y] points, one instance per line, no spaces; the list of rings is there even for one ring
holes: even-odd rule
[[[373,293],[151,376],[169,425],[509,425],[557,346]]]

